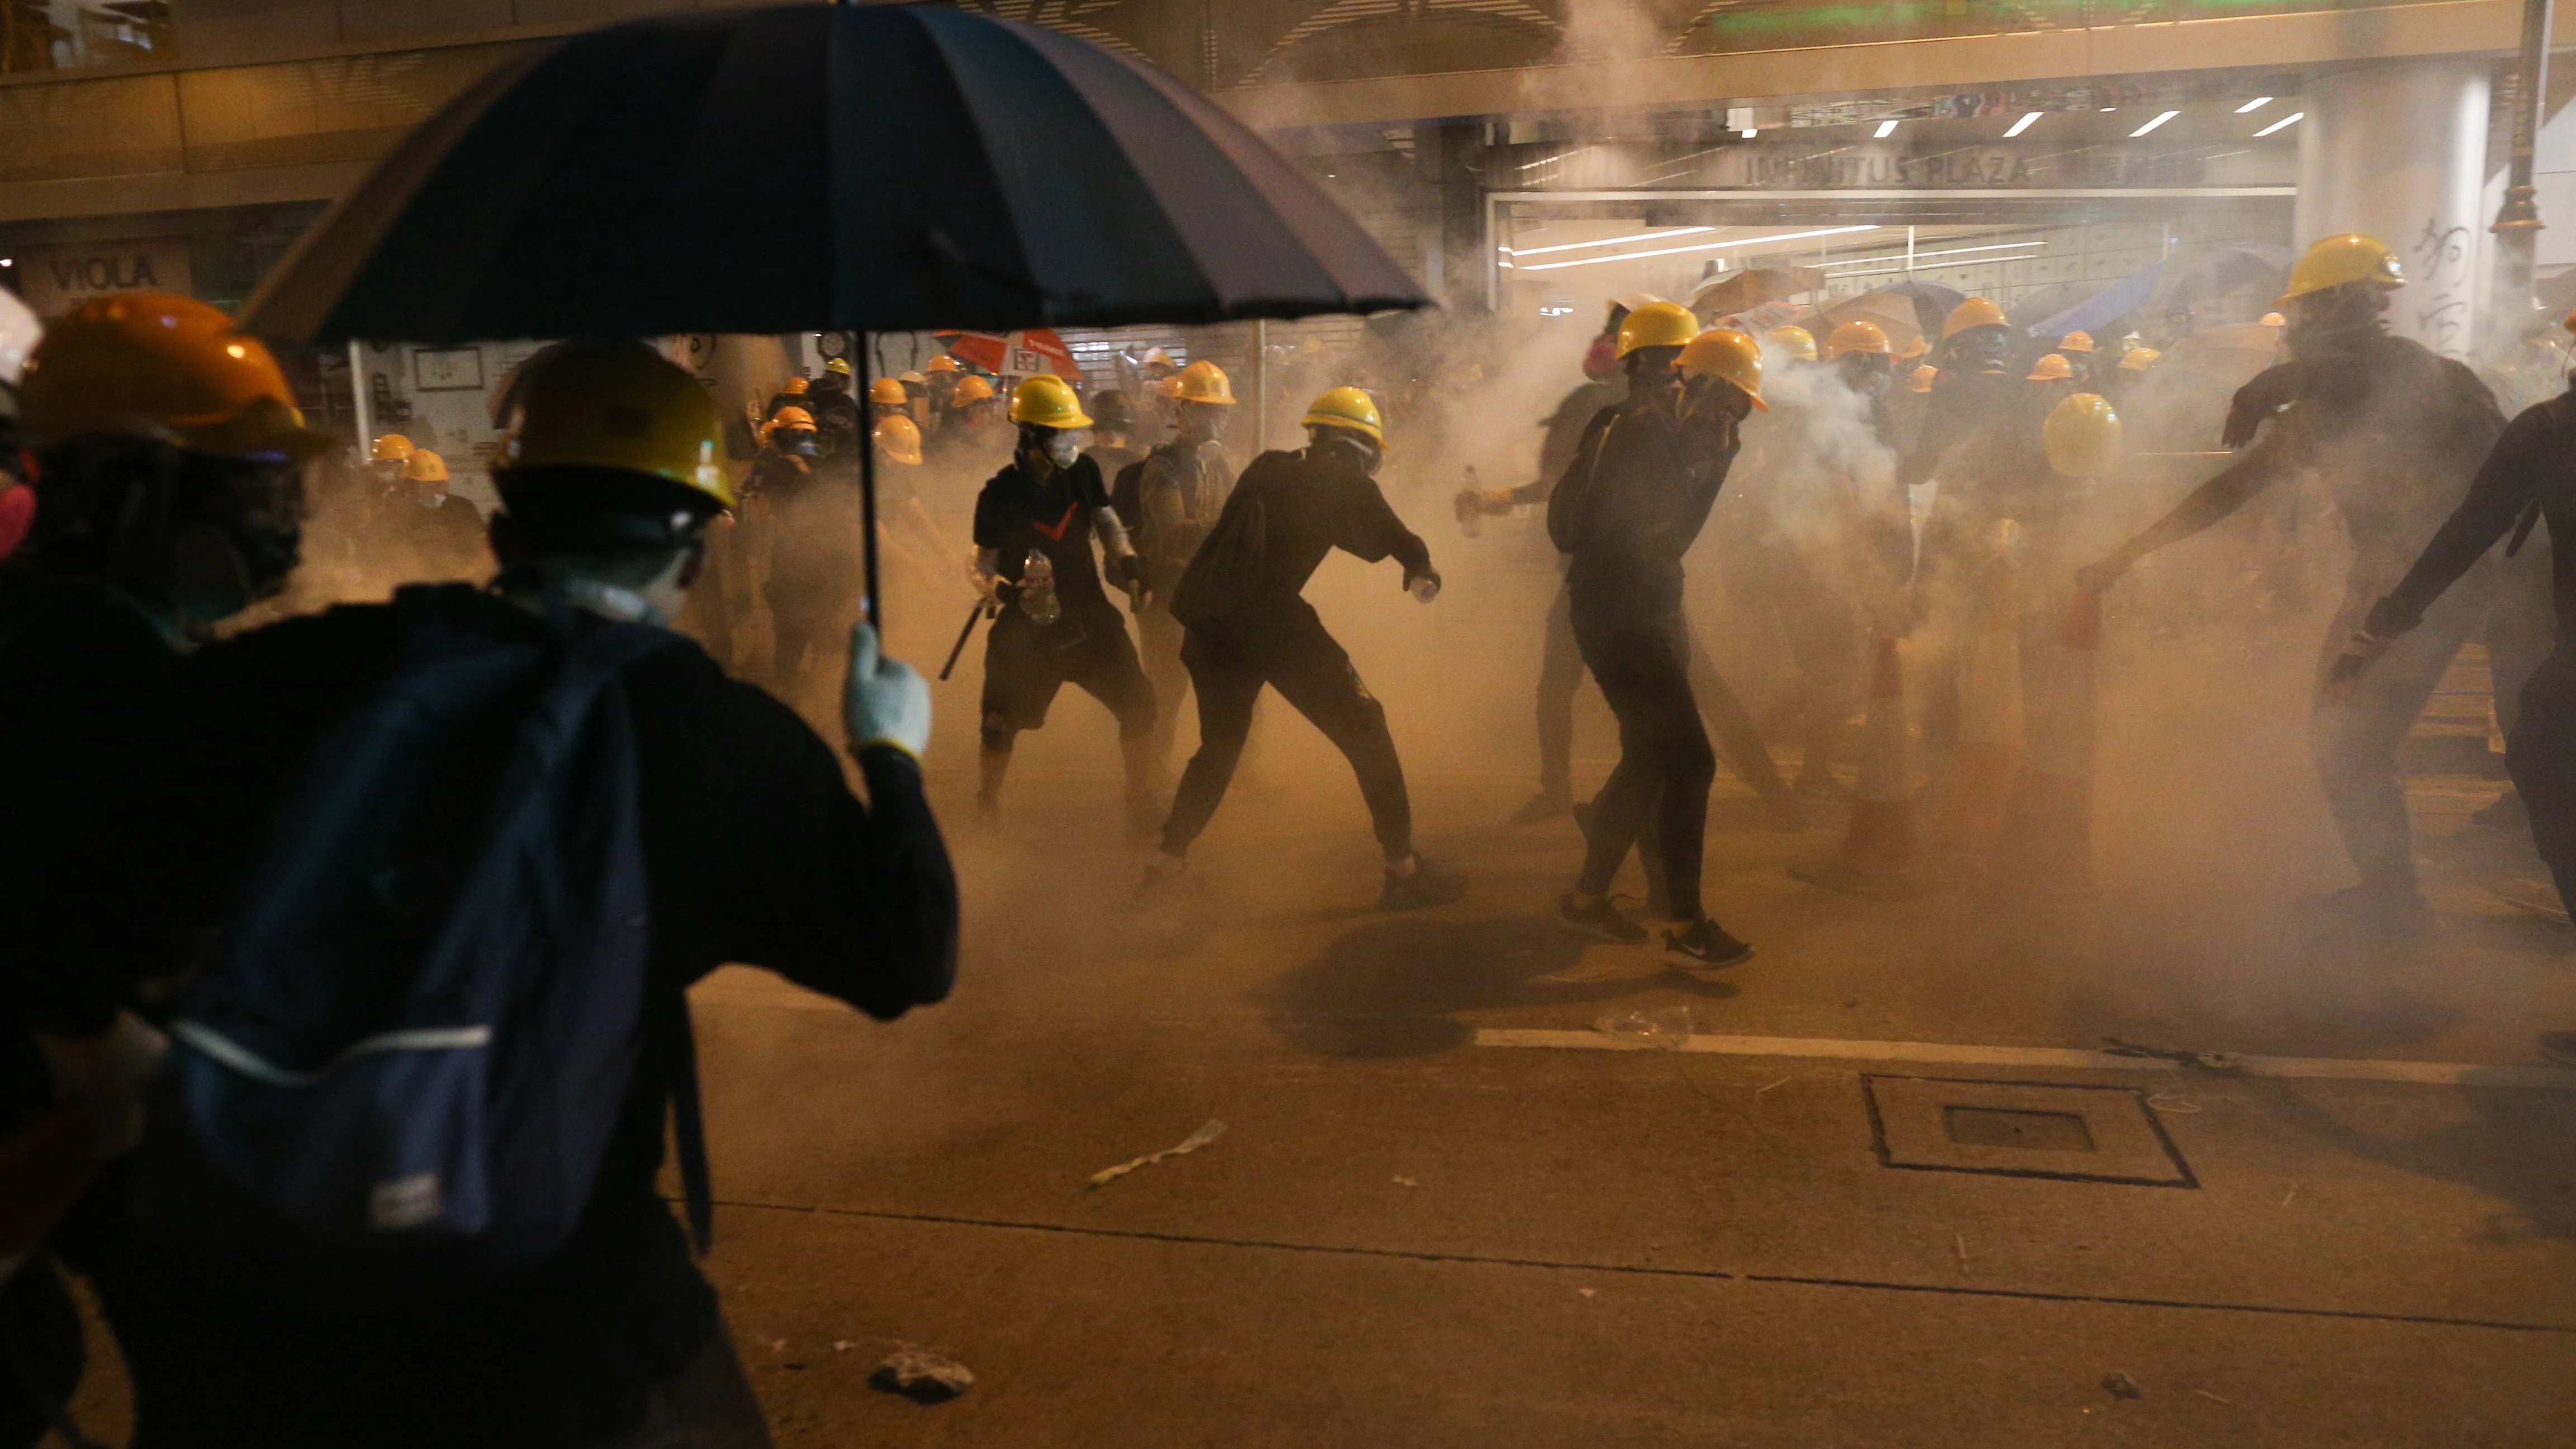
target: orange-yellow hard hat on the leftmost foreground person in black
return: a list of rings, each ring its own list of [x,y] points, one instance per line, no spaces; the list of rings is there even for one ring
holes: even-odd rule
[[[165,433],[201,454],[314,456],[278,358],[232,317],[167,291],[95,297],[26,358],[18,420],[44,446],[75,433]]]

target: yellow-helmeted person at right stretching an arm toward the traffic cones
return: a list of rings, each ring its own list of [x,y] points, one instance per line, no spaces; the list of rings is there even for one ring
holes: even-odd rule
[[[2370,606],[2388,593],[2427,539],[2460,503],[2504,418],[2468,366],[2383,330],[2388,294],[2403,286],[2385,245],[2342,235],[2308,248],[2282,299],[2290,309],[2290,361],[2236,392],[2223,443],[2251,449],[2202,482],[2159,523],[2087,567],[2079,583],[2107,588],[2141,557],[2187,539],[2239,511],[2264,487],[2313,474],[2334,490],[2354,559],[2344,606],[2318,660],[2336,657]],[[2277,418],[2277,420],[2275,420]],[[2257,441],[2257,428],[2275,420]],[[2486,621],[2486,570],[2470,588],[2432,603],[2424,627],[2406,634],[2347,691],[2321,694],[2308,750],[2326,786],[2326,804],[2362,882],[2318,908],[2342,923],[2385,936],[2432,926],[2416,884],[2414,830],[2398,745],[2424,701],[2442,683],[2450,657]]]

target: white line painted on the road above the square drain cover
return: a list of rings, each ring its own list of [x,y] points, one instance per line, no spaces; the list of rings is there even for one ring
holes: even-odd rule
[[[1654,1052],[1643,1042],[1615,1042],[1600,1031],[1484,1029],[1479,1047],[1556,1047],[1571,1052]],[[1937,1062],[1950,1067],[2076,1067],[2107,1073],[2179,1073],[2164,1057],[2123,1057],[2081,1047],[1958,1047],[1950,1042],[1842,1042],[1832,1036],[1690,1036],[1682,1052],[1718,1057],[1832,1057],[1839,1062]],[[2249,1078],[2324,1078],[2352,1083],[2488,1085],[2576,1091],[2576,1070],[2491,1067],[2476,1062],[2360,1062],[2342,1057],[2236,1057]],[[2226,1075],[2226,1073],[2210,1073]]]

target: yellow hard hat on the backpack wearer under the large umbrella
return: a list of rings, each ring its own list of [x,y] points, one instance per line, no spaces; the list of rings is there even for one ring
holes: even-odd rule
[[[502,438],[513,472],[639,472],[732,508],[734,482],[719,456],[716,402],[685,369],[636,343],[556,343],[531,358]]]

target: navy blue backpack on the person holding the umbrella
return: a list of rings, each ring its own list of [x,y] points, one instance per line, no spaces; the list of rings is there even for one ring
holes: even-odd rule
[[[394,619],[175,1003],[139,1160],[152,1232],[371,1294],[526,1271],[590,1201],[657,1008],[618,676],[675,639],[562,603],[502,629],[464,585]],[[659,1008],[703,1243],[688,1006]]]

